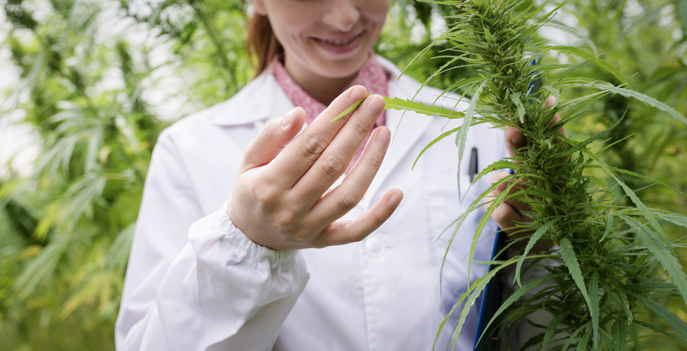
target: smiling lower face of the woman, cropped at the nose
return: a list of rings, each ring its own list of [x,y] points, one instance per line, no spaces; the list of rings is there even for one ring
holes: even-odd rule
[[[379,38],[390,0],[254,0],[284,47],[292,76],[354,75]],[[308,79],[308,78],[306,78]]]

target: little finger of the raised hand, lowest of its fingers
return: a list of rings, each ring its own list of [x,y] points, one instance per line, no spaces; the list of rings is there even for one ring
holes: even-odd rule
[[[403,192],[401,190],[387,191],[370,210],[358,218],[328,225],[315,242],[315,247],[345,245],[363,240],[389,219],[402,199]]]

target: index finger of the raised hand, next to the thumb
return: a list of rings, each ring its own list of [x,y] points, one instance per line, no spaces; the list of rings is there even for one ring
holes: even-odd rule
[[[322,152],[352,117],[343,117],[330,122],[339,113],[346,111],[352,104],[367,96],[367,90],[361,86],[351,87],[339,95],[329,107],[320,114],[312,124],[289,143],[284,151],[267,166],[269,174],[280,188],[291,189],[293,185],[313,166]],[[357,111],[359,111],[358,109]]]

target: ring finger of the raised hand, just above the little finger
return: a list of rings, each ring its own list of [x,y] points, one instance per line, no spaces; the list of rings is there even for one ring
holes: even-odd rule
[[[341,185],[319,199],[311,210],[313,220],[332,223],[357,205],[368,190],[372,179],[384,159],[391,131],[383,126],[376,128],[370,136],[363,155],[356,162]]]

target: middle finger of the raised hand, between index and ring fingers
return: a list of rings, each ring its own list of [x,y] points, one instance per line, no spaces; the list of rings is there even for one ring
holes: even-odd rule
[[[329,146],[327,146],[326,150],[322,152],[319,159],[313,163],[308,172],[293,186],[294,196],[305,195],[308,205],[315,204],[319,197],[346,171],[348,163],[350,163],[353,155],[355,155],[355,152],[383,110],[384,99],[381,96],[372,95],[366,98]],[[384,128],[380,132],[384,133],[383,138],[390,137],[391,135],[388,128]],[[386,144],[385,140],[380,141]],[[373,150],[373,153],[376,155],[374,159],[379,159],[379,163],[381,163],[386,148],[380,148],[379,145],[374,144]],[[379,168],[379,164],[376,165],[376,168]],[[376,168],[374,172],[376,172]],[[374,172],[372,172],[372,177],[374,177]]]

